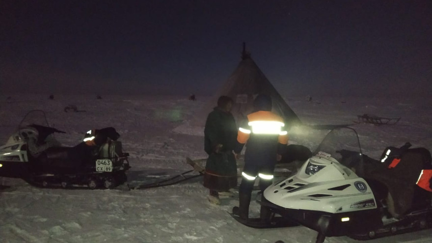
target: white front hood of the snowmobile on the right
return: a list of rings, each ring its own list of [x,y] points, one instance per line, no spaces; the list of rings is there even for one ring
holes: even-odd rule
[[[271,203],[286,209],[342,213],[376,208],[366,181],[335,159],[321,154],[299,172],[264,191]]]

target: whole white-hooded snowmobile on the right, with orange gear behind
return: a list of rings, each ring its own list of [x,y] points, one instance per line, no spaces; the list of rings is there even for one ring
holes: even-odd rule
[[[316,230],[316,243],[327,236],[367,240],[431,227],[431,153],[409,146],[388,147],[377,161],[362,154],[353,129],[334,129],[297,174],[267,188],[267,200],[259,202],[272,216]]]

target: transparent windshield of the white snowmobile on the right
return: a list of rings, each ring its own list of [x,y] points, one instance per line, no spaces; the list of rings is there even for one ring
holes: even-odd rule
[[[350,166],[353,162],[359,162],[362,153],[355,130],[342,127],[331,130],[313,154],[332,157],[341,164]]]

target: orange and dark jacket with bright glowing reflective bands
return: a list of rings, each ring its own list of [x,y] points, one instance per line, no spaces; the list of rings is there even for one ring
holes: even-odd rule
[[[256,160],[266,160],[267,156],[275,160],[276,153],[283,154],[288,144],[288,133],[284,129],[282,117],[271,112],[260,110],[247,115],[247,121],[240,125],[234,150],[237,154],[246,144],[245,160],[251,153]]]

